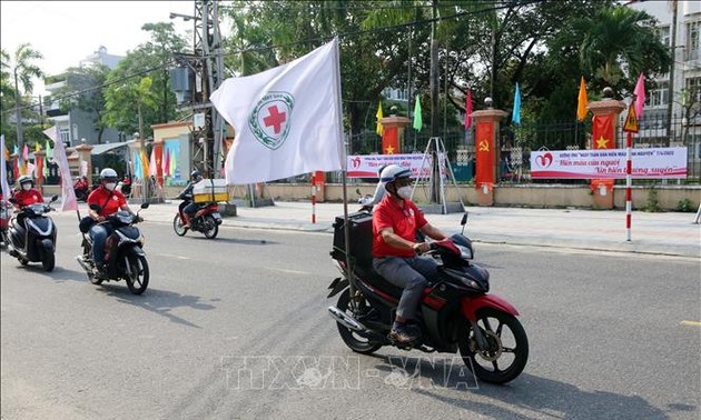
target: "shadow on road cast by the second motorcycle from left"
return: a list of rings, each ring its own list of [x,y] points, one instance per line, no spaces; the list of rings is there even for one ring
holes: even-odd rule
[[[101,290],[108,296],[117,298],[120,303],[131,304],[168,318],[171,322],[187,327],[201,328],[170,311],[176,308],[191,308],[198,310],[211,310],[214,304],[200,301],[198,296],[180,294],[167,290],[148,289],[144,294],[136,296],[129,292],[124,281],[102,283]]]

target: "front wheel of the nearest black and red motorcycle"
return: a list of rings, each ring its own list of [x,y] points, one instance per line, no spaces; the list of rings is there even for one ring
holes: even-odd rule
[[[470,322],[465,323],[458,338],[460,353],[478,379],[506,383],[521,374],[529,359],[529,338],[514,316],[492,308],[477,312],[477,327],[488,344],[486,350],[478,349]]]

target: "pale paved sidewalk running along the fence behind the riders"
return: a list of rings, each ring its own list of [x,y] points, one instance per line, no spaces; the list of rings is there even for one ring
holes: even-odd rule
[[[147,221],[171,223],[178,203],[166,201],[151,204],[142,216]],[[343,208],[342,203],[317,203],[316,223],[312,223],[309,202],[285,201],[260,208],[237,207],[237,216],[225,217],[223,226],[330,233],[335,218],[343,216]],[[357,209],[356,203],[348,204],[348,212]],[[701,224],[693,223],[694,213],[633,211],[629,242],[625,240],[625,211],[620,210],[495,207],[466,207],[465,210],[470,213],[465,233],[475,242],[694,258],[701,256]],[[426,214],[426,218],[448,234],[461,230],[462,213]]]

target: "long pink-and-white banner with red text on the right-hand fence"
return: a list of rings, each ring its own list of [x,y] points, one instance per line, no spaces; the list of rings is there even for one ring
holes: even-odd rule
[[[687,148],[631,150],[633,178],[687,178]],[[531,152],[531,178],[625,178],[625,149]]]

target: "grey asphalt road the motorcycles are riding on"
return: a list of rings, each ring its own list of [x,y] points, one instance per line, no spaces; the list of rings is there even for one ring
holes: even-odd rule
[[[55,213],[56,214],[56,213]],[[452,354],[350,352],[326,307],[332,236],[142,224],[149,289],[96,287],[56,214],[57,269],[1,253],[3,419],[698,419],[698,259],[478,244],[531,356],[507,386]]]

